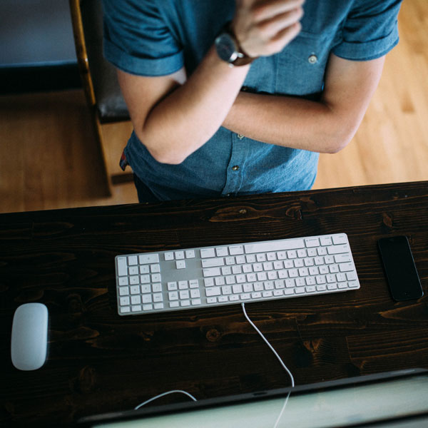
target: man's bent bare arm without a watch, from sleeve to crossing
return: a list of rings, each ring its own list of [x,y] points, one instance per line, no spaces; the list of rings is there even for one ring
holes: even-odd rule
[[[383,64],[384,57],[349,61],[331,54],[319,102],[241,92],[223,126],[264,143],[337,153],[360,126]]]

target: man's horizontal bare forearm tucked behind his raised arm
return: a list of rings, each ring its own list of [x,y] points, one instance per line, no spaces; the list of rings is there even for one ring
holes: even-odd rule
[[[245,92],[223,126],[264,143],[319,153],[336,153],[357,130],[326,102]]]

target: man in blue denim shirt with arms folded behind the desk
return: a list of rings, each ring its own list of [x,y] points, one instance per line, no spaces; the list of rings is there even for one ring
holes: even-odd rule
[[[141,202],[305,190],[357,131],[401,0],[104,0]]]

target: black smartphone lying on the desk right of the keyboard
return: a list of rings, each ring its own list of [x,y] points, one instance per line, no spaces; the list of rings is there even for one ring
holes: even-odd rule
[[[382,238],[377,245],[392,298],[401,301],[422,297],[424,292],[407,236]]]

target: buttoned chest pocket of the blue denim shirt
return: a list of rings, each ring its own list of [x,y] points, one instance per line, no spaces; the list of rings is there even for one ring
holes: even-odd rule
[[[285,46],[277,60],[275,92],[292,96],[311,96],[322,91],[325,68],[334,37],[300,31]]]

